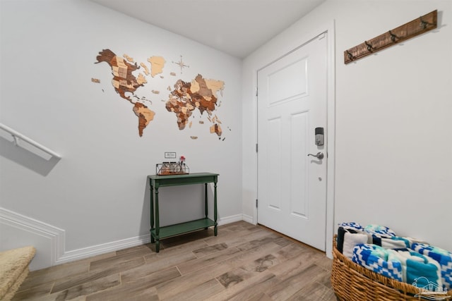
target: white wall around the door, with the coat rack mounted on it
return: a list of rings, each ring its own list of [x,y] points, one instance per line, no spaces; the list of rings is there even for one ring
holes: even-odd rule
[[[345,65],[343,51],[437,9],[438,29]],[[452,250],[452,2],[328,0],[244,60],[244,216],[256,218],[256,70],[335,21],[335,223]]]

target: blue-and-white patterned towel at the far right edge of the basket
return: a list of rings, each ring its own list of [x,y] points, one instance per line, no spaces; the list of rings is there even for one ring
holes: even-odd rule
[[[439,262],[441,267],[441,280],[444,290],[452,289],[452,253],[439,247],[433,247],[424,243],[415,242],[411,246],[412,250],[426,255]]]

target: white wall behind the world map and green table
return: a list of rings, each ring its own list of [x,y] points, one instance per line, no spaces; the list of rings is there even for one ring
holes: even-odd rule
[[[220,222],[242,219],[239,59],[90,1],[11,0],[1,1],[0,8],[0,122],[62,156],[46,161],[11,148],[0,137],[0,208],[64,231],[57,263],[121,245],[115,242],[136,244],[148,238],[146,176],[165,161],[164,152],[186,156],[191,172],[220,173]],[[143,137],[132,105],[114,92],[110,67],[95,64],[102,49],[128,54],[138,63],[150,56],[167,61],[164,78],[148,77],[148,84],[136,91],[152,100],[149,108],[156,113]],[[189,66],[182,74],[172,63],[181,55]],[[206,113],[202,118],[194,113],[193,127],[179,130],[175,115],[165,109],[167,87],[198,73],[225,82],[215,112],[225,140],[209,133],[207,121],[198,124]],[[162,188],[162,224],[201,217],[202,192],[201,185]],[[182,196],[184,203],[178,202]],[[20,235],[11,223],[2,225],[1,250],[33,244],[29,232]],[[44,236],[42,240],[49,239]],[[38,249],[34,262],[42,264],[32,268],[47,266],[48,253]]]

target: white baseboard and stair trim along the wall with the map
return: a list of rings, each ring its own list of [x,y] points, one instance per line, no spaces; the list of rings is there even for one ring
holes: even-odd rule
[[[219,219],[218,225],[221,226],[227,223],[234,223],[236,221],[247,221],[249,223],[253,223],[251,216],[237,214]],[[28,238],[25,245],[34,245],[37,248],[37,256],[35,256],[32,265],[30,265],[31,270],[44,269],[49,266],[73,262],[78,259],[93,257],[99,254],[126,249],[128,247],[135,247],[137,245],[144,245],[150,242],[150,235],[145,234],[134,238],[126,238],[124,240],[116,240],[101,245],[93,245],[77,250],[66,251],[66,232],[63,229],[51,226],[47,223],[42,223],[42,221],[37,221],[36,219],[31,219],[28,216],[23,216],[22,214],[0,207],[0,226],[1,224],[14,228],[18,231],[25,231],[26,235],[24,233],[23,236]],[[30,233],[32,238],[30,238]],[[20,236],[20,234],[18,236]],[[4,238],[1,238],[1,240],[4,240]],[[15,241],[20,242],[20,238],[15,239]],[[1,248],[5,247],[5,250],[23,246],[23,244],[11,245],[11,243],[1,243]]]

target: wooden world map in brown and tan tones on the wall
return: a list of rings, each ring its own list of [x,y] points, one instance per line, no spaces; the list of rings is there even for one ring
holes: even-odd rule
[[[169,94],[166,99],[160,100],[165,102],[164,108],[167,112],[176,115],[179,130],[184,130],[186,127],[191,128],[193,123],[203,125],[204,121],[208,121],[210,123],[210,127],[208,127],[210,134],[216,134],[218,140],[225,141],[225,137],[221,137],[223,133],[222,125],[220,125],[220,118],[216,114],[221,104],[218,93],[221,97],[223,96],[224,81],[203,78],[203,75],[199,73],[191,81],[172,79],[173,76],[176,76],[176,73],[166,70],[166,60],[162,56],[150,56],[147,59],[147,63],[141,62],[138,65],[138,62],[127,54],[118,56],[110,49],[102,49],[99,55],[96,56],[96,60],[95,63],[105,62],[110,66],[114,90],[122,99],[126,99],[133,105],[132,111],[138,117],[138,135],[140,137],[143,136],[145,128],[154,120],[156,111],[151,108],[159,109],[158,106],[153,105],[150,97],[143,96],[143,94],[148,92],[152,92],[155,95],[160,94],[160,90],[153,88],[157,87],[157,85],[154,86],[156,83],[155,79],[158,81],[163,80],[158,86],[167,85]],[[189,68],[182,61],[182,56],[180,61],[173,61],[173,63],[179,66],[181,74],[182,68]],[[138,73],[138,75],[134,73]],[[165,81],[165,75],[168,74],[169,82]],[[101,81],[97,78],[91,78],[91,82],[100,84]],[[138,90],[145,87],[148,83],[153,85],[153,87],[147,90]],[[104,92],[103,89],[102,92]],[[162,109],[161,106],[160,109]],[[203,114],[204,112],[206,114]],[[227,129],[230,130],[230,127],[227,127]],[[192,140],[198,139],[198,136],[194,135],[189,137]]]

